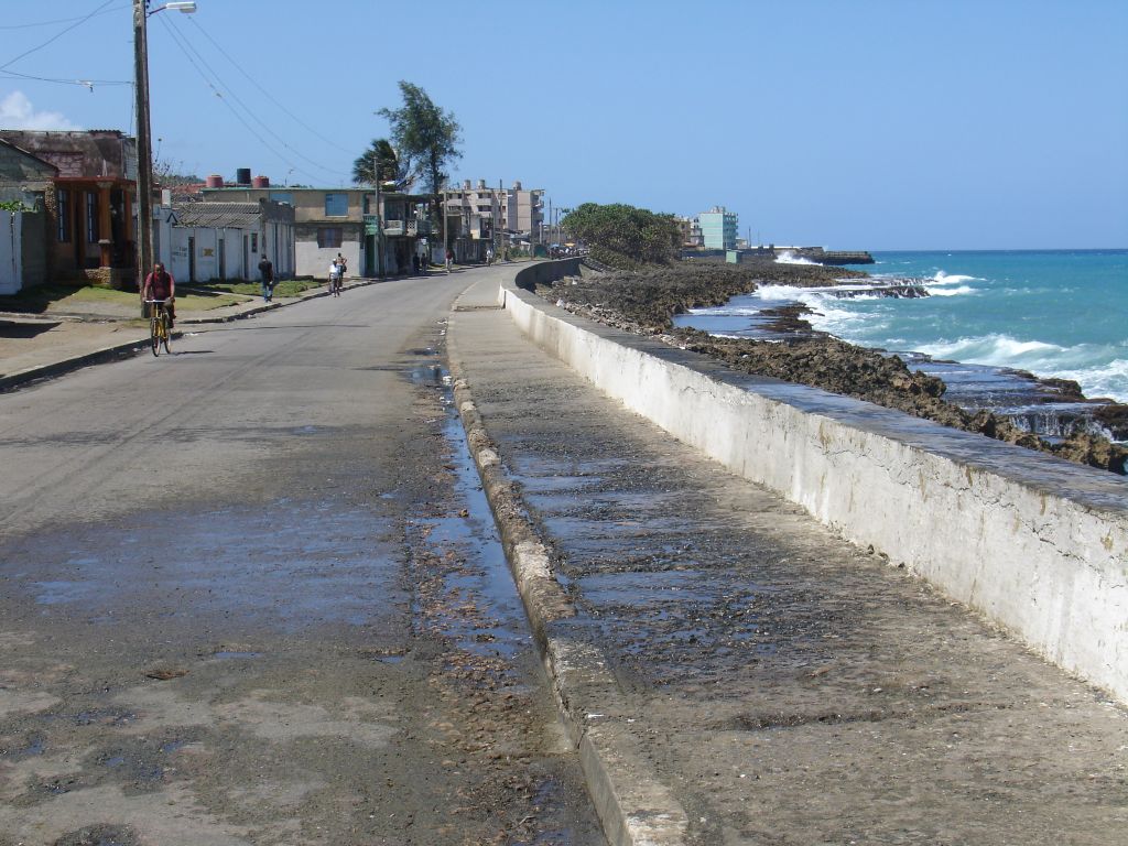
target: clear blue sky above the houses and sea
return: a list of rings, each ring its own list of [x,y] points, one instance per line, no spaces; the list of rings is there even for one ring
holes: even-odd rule
[[[1128,246],[1123,0],[197,3],[149,41],[160,156],[201,176],[347,180],[406,79],[461,123],[456,178],[555,205],[722,204],[836,249]],[[2,7],[0,125],[133,131],[129,0]]]

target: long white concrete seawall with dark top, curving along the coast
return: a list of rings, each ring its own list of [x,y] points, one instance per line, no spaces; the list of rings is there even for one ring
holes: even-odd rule
[[[521,283],[559,275],[534,265]],[[576,318],[505,283],[543,349],[1128,703],[1128,482]]]

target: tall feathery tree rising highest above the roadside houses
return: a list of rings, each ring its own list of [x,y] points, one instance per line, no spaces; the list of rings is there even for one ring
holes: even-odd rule
[[[381,108],[377,114],[388,121],[400,156],[415,162],[413,173],[438,194],[449,177],[444,168],[462,157],[458,149],[461,126],[453,113],[434,105],[418,86],[400,80],[399,92],[404,98],[400,108]]]

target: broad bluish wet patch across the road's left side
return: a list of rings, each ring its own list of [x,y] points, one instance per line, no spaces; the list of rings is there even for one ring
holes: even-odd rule
[[[95,625],[151,607],[188,624],[210,614],[285,631],[364,626],[409,601],[394,522],[367,509],[280,500],[131,521],[23,538],[0,557],[45,562],[23,588],[45,614],[78,613]]]

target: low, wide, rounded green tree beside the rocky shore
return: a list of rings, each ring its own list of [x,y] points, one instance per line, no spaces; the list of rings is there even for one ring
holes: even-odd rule
[[[564,215],[561,226],[591,247],[597,258],[601,253],[615,265],[668,264],[678,257],[681,245],[672,214],[655,214],[624,203],[584,203]]]

